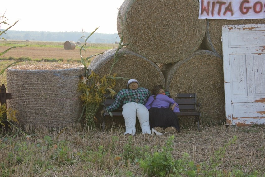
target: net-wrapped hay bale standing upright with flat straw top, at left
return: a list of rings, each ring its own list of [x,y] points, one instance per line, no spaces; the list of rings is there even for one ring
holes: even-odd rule
[[[78,121],[82,103],[77,91],[82,65],[17,65],[7,69],[8,108],[22,126],[60,128]]]

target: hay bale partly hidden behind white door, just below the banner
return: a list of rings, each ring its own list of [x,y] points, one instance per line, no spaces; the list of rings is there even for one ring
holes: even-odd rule
[[[223,55],[222,27],[224,25],[265,24],[265,19],[223,20],[208,19],[203,43],[207,50]]]

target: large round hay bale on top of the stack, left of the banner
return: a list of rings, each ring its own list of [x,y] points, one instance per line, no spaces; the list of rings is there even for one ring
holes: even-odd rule
[[[123,43],[155,63],[173,63],[202,43],[206,20],[198,19],[197,0],[125,0],[117,17]]]

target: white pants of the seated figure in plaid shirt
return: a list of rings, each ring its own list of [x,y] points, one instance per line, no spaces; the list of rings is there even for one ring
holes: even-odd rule
[[[122,109],[122,115],[124,117],[126,128],[124,135],[128,133],[131,135],[135,134],[136,116],[138,117],[142,133],[151,134],[149,111],[143,104],[134,102],[126,103],[123,105]]]

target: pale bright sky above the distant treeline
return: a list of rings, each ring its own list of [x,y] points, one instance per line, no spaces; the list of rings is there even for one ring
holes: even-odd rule
[[[114,34],[118,9],[124,0],[3,0],[0,16],[16,31],[92,32]],[[3,19],[2,19],[3,20]],[[0,21],[2,21],[0,19]],[[0,30],[1,31],[1,30]]]

